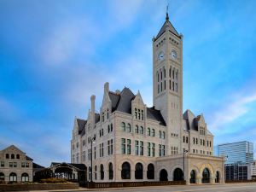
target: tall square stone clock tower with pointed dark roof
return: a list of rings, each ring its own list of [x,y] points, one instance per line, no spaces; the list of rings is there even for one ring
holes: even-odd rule
[[[183,35],[172,26],[168,13],[152,41],[153,103],[166,121],[166,154],[182,153]]]

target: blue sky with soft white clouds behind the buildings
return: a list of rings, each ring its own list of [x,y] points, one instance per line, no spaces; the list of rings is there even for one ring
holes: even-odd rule
[[[214,144],[256,138],[256,1],[169,1],[183,33],[183,110],[203,113]],[[103,84],[152,106],[152,38],[166,0],[0,0],[0,148],[70,161],[73,120]],[[135,70],[137,67],[137,70]]]

